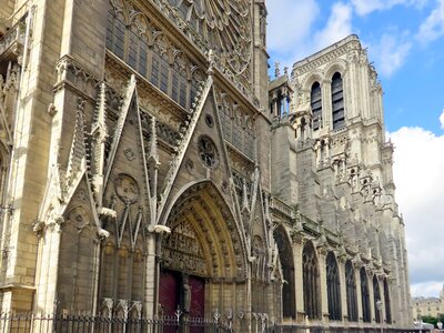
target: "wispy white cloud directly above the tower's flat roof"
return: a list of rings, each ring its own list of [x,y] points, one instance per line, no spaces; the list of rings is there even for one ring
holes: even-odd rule
[[[315,33],[316,48],[323,49],[352,33],[352,8],[342,2],[332,7],[324,29]]]

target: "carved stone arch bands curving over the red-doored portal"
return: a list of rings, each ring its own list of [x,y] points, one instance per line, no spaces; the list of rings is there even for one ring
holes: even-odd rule
[[[208,271],[201,274],[191,273],[202,278],[245,279],[248,252],[233,216],[214,183],[204,180],[189,183],[176,193],[165,210],[161,224],[174,229],[185,223],[195,233]],[[173,265],[171,269],[180,268]]]

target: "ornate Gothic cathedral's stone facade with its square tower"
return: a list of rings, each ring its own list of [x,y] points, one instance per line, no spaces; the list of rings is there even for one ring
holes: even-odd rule
[[[411,325],[393,145],[355,36],[269,81],[264,0],[0,16],[1,311]]]

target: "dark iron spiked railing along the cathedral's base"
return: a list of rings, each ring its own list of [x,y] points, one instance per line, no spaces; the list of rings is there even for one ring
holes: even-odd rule
[[[251,326],[234,327],[221,316],[211,319],[188,317],[181,315],[144,317],[119,317],[90,314],[42,315],[32,313],[0,314],[0,332],[40,332],[40,333],[430,333],[426,329],[395,329],[387,326],[321,326],[306,324],[278,324],[268,321],[266,316],[251,319]]]

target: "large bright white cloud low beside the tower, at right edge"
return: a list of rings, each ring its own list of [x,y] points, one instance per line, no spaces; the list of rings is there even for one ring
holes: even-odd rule
[[[404,216],[413,295],[444,284],[444,135],[422,128],[391,133],[396,199]]]

